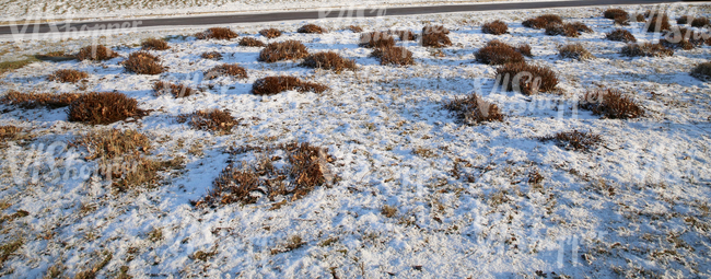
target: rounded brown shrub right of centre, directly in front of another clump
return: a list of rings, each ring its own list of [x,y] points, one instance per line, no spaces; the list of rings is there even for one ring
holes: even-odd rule
[[[538,92],[551,92],[558,85],[556,72],[544,66],[525,62],[506,63],[497,68],[497,85],[506,91],[516,90],[525,95]]]

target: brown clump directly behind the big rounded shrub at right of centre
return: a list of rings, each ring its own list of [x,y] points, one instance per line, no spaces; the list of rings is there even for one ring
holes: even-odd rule
[[[524,55],[531,56],[531,46],[513,47],[498,39],[489,40],[486,46],[474,54],[477,61],[486,65],[504,65],[523,62]]]

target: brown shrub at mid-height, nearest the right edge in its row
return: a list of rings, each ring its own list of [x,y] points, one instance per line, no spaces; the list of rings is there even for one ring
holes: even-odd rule
[[[611,119],[637,118],[644,115],[644,111],[634,100],[623,96],[619,90],[614,89],[586,92],[580,106],[592,111],[595,115]]]

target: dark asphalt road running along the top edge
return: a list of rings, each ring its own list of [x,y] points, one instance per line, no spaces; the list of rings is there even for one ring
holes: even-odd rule
[[[517,2],[517,3],[485,3],[485,4],[457,4],[457,5],[429,5],[429,7],[400,7],[387,9],[362,9],[350,11],[351,16],[374,18],[392,15],[411,15],[427,13],[451,13],[451,12],[480,12],[493,10],[526,10],[526,9],[546,9],[546,8],[572,8],[588,5],[620,5],[620,4],[655,4],[672,3],[678,1],[660,1],[660,0],[579,0],[564,2]],[[233,14],[233,15],[202,15],[202,16],[184,16],[184,18],[161,18],[161,19],[139,19],[133,20],[114,20],[96,22],[77,22],[77,23],[53,23],[53,24],[28,24],[26,25],[4,25],[0,26],[0,35],[10,35],[18,33],[57,33],[57,32],[77,32],[83,30],[95,31],[105,30],[106,26],[127,26],[128,23],[136,23],[138,27],[165,27],[165,26],[185,26],[185,25],[221,25],[236,23],[259,23],[277,22],[293,20],[317,20],[333,19],[343,16],[349,11],[340,10],[325,11],[301,11],[301,12],[275,12],[275,13],[256,13],[256,14]],[[139,22],[140,21],[140,22]],[[36,26],[35,26],[36,25]],[[136,27],[130,25],[131,27]],[[24,32],[23,32],[23,27]],[[120,31],[120,30],[114,30]]]

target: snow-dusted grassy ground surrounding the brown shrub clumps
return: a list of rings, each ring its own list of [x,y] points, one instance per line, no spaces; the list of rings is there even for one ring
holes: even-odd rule
[[[695,9],[709,14],[709,7]],[[287,34],[269,42],[298,39],[311,51],[329,49],[356,59],[360,70],[340,74],[301,68],[298,61],[258,62],[259,48],[189,36],[172,36],[172,49],[153,51],[170,67],[161,75],[127,73],[118,65],[124,58],[35,62],[7,73],[2,92],[119,91],[137,98],[141,108],[154,111],[109,127],[147,133],[154,156],[184,156],[186,165],[165,173],[155,189],[112,194],[106,182],[94,178],[46,182],[39,173],[34,183],[24,176],[16,183],[11,170],[32,162],[27,156],[33,146],[4,148],[0,204],[2,216],[12,218],[3,219],[0,239],[23,244],[8,255],[0,272],[32,278],[53,267],[72,277],[110,255],[100,277],[121,270],[135,278],[709,277],[711,88],[688,73],[708,61],[711,47],[677,50],[668,58],[621,57],[625,44],[604,39],[614,26],[602,19],[602,11],[322,21],[333,30],[323,35],[295,33],[304,22],[270,25]],[[521,25],[546,12],[580,20],[595,32],[566,38]],[[493,19],[509,23],[511,34],[482,34],[481,23]],[[406,68],[380,66],[369,57],[370,49],[358,47],[359,34],[339,31],[350,24],[420,30],[426,23],[451,28],[454,46],[442,49],[442,56],[409,44],[417,65]],[[641,24],[626,28],[639,31]],[[263,27],[232,26],[243,36],[265,39],[254,35]],[[121,45],[116,50],[126,57],[143,37],[197,31],[125,34],[112,42]],[[645,33],[636,36],[652,39]],[[473,53],[493,38],[531,44],[529,61],[558,73],[561,95],[491,92],[496,68],[475,62]],[[75,50],[89,42],[12,43],[2,49],[15,55]],[[559,58],[557,47],[567,43],[584,44],[597,59]],[[211,50],[223,60],[199,58]],[[200,84],[191,80],[222,62],[244,66],[249,78]],[[91,77],[79,85],[47,81],[57,69],[79,69]],[[331,89],[323,94],[249,94],[256,79],[273,74]],[[179,100],[155,97],[151,85],[156,80],[205,91]],[[573,109],[580,94],[598,86],[622,90],[646,116],[599,119]],[[503,123],[464,126],[442,108],[474,88],[503,108]],[[224,108],[245,120],[225,136],[176,121],[178,114],[203,108]],[[0,125],[26,128],[34,147],[68,142],[95,129],[67,121],[62,109],[0,109]],[[579,152],[536,139],[573,129],[599,133],[604,144]],[[266,199],[205,210],[189,205],[206,194],[229,160],[242,160],[226,149],[291,141],[328,148],[336,159],[329,167],[339,181],[278,209],[272,207],[279,200]],[[452,172],[455,162],[458,177]],[[39,163],[46,172],[48,165]],[[63,174],[62,159],[57,163]],[[81,161],[78,166],[92,164]],[[535,172],[544,177],[539,186],[528,183]],[[396,208],[395,216],[382,214],[385,206]],[[21,210],[28,214],[14,214]],[[301,247],[273,253],[293,236],[301,239]]]

